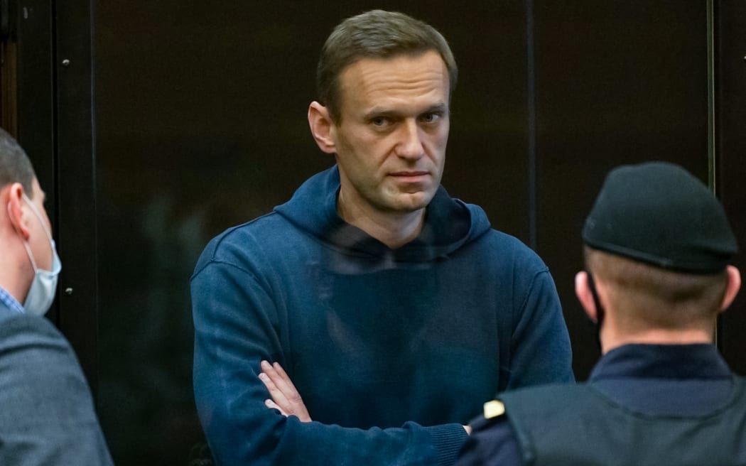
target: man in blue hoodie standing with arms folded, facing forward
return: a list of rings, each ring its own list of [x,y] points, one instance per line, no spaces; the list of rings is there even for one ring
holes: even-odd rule
[[[213,239],[192,276],[219,465],[450,465],[498,391],[573,380],[547,267],[440,186],[456,78],[443,37],[401,13],[328,38],[308,121],[336,165]]]

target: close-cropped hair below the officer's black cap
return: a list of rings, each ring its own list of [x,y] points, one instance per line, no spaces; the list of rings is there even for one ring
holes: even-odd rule
[[[709,322],[722,303],[727,272],[692,274],[585,246],[586,268],[607,284],[609,305],[641,326],[677,329]]]

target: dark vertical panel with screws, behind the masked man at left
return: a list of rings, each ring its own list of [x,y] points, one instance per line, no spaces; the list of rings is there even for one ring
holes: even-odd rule
[[[63,291],[61,296],[58,327],[78,352],[94,400],[98,400],[98,218],[93,173],[95,116],[93,81],[84,82],[95,73],[91,48],[95,40],[91,35],[92,5],[93,0],[72,1],[64,6],[60,1],[54,4],[57,113],[54,150],[60,206],[58,231],[60,240],[64,242],[63,258],[67,257],[68,263],[67,274],[60,275],[60,291],[70,289],[69,293]],[[81,37],[84,34],[89,34],[89,37]],[[85,69],[85,66],[89,68]],[[80,227],[75,227],[75,224]],[[75,251],[75,254],[68,254],[69,251]],[[85,312],[88,307],[93,308],[90,314]]]

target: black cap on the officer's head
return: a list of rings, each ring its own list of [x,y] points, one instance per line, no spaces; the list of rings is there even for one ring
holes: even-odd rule
[[[738,244],[720,202],[673,163],[620,166],[606,175],[583,227],[592,248],[695,274],[722,271]]]

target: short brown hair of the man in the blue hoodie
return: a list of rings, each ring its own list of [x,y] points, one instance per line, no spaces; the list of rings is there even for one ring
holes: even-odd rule
[[[456,87],[458,68],[445,38],[430,25],[404,13],[371,10],[345,19],[334,28],[322,48],[316,68],[319,103],[333,122],[341,121],[339,75],[361,58],[390,58],[399,54],[440,54],[449,78],[449,98]]]

